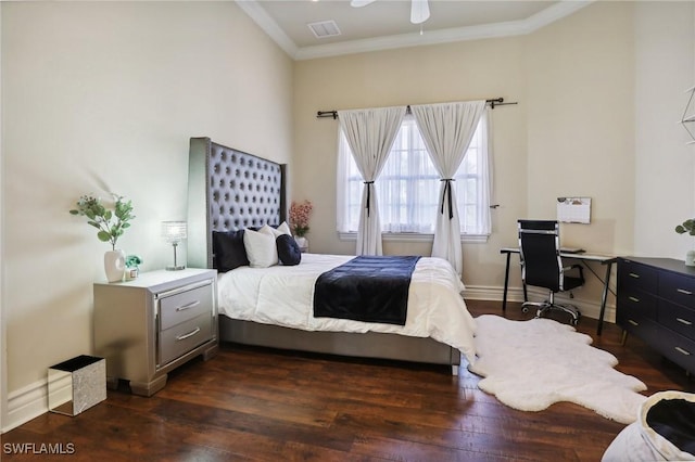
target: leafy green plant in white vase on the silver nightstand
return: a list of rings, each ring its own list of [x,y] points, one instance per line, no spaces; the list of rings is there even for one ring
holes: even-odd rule
[[[87,224],[97,228],[99,241],[111,244],[111,251],[104,254],[104,270],[109,282],[122,281],[125,273],[126,255],[116,248],[118,238],[130,227],[132,203],[123,196],[113,194],[113,209],[106,208],[100,197],[91,194],[84,195],[77,201],[77,208],[70,210],[71,215],[87,217]]]

